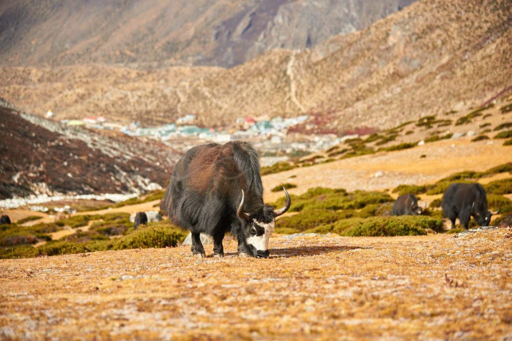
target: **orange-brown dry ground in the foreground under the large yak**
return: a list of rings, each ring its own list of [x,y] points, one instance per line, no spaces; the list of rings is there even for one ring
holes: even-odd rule
[[[0,260],[0,339],[512,337],[509,229],[224,245]]]

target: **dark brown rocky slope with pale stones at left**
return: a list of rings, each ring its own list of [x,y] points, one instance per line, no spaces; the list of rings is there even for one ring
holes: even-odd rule
[[[178,155],[135,139],[66,128],[0,101],[0,199],[160,188]]]

